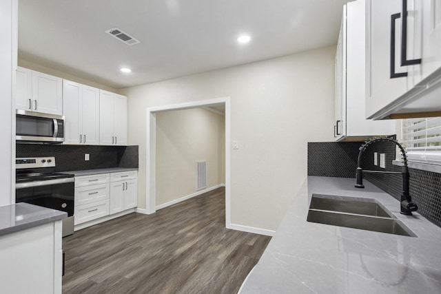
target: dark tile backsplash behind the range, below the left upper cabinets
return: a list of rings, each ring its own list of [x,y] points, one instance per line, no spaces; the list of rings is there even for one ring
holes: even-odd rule
[[[54,156],[55,171],[107,169],[110,167],[138,167],[138,146],[83,146],[83,145],[16,145],[17,158]],[[84,160],[90,154],[90,160]]]

